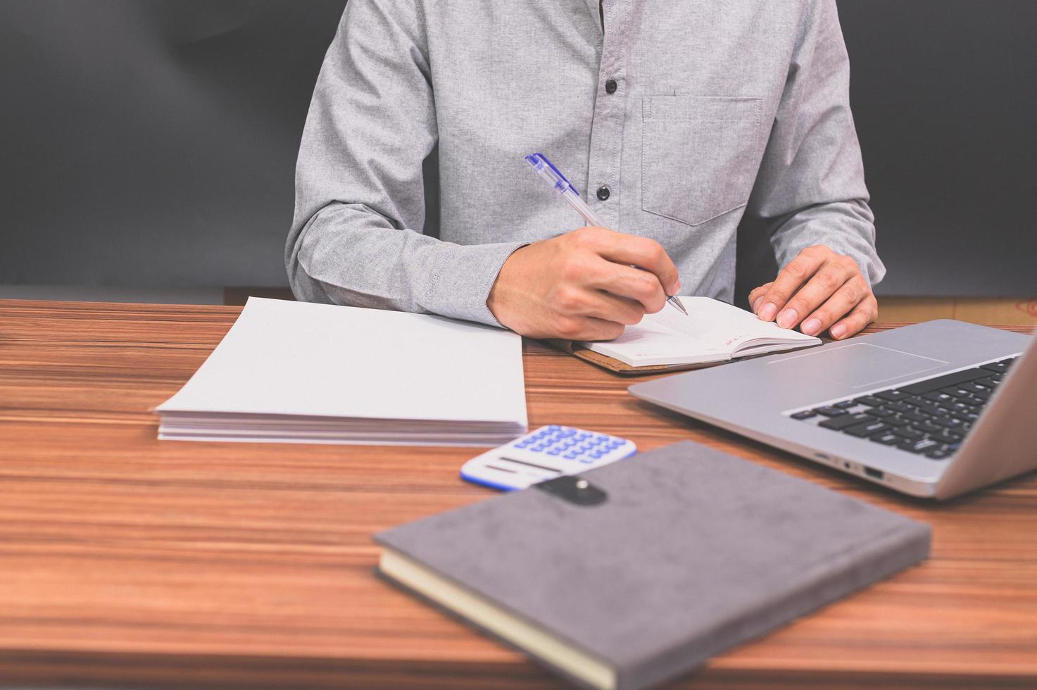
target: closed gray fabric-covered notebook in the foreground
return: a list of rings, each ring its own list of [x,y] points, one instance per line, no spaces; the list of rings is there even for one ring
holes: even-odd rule
[[[579,478],[382,532],[379,571],[572,681],[625,690],[929,553],[928,525],[696,443]]]

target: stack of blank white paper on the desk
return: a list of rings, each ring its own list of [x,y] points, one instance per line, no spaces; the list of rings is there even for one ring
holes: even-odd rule
[[[527,431],[522,338],[441,316],[250,298],[160,439],[499,445]]]

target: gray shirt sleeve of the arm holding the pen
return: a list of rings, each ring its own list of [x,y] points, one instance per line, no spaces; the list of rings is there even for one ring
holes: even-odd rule
[[[521,245],[461,246],[422,234],[422,162],[437,126],[419,5],[346,5],[299,150],[288,280],[301,300],[499,326],[486,298]]]

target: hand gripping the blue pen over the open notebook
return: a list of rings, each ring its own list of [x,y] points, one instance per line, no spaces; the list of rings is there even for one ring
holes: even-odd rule
[[[610,340],[679,291],[677,267],[654,240],[582,227],[515,250],[486,306],[532,338]]]

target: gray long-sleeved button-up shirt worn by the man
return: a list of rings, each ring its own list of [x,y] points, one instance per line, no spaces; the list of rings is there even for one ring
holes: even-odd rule
[[[496,325],[507,256],[583,224],[533,151],[662,243],[684,293],[731,301],[744,214],[780,265],[824,244],[877,281],[848,82],[834,0],[606,0],[604,27],[597,0],[351,0],[299,153],[292,288]]]

